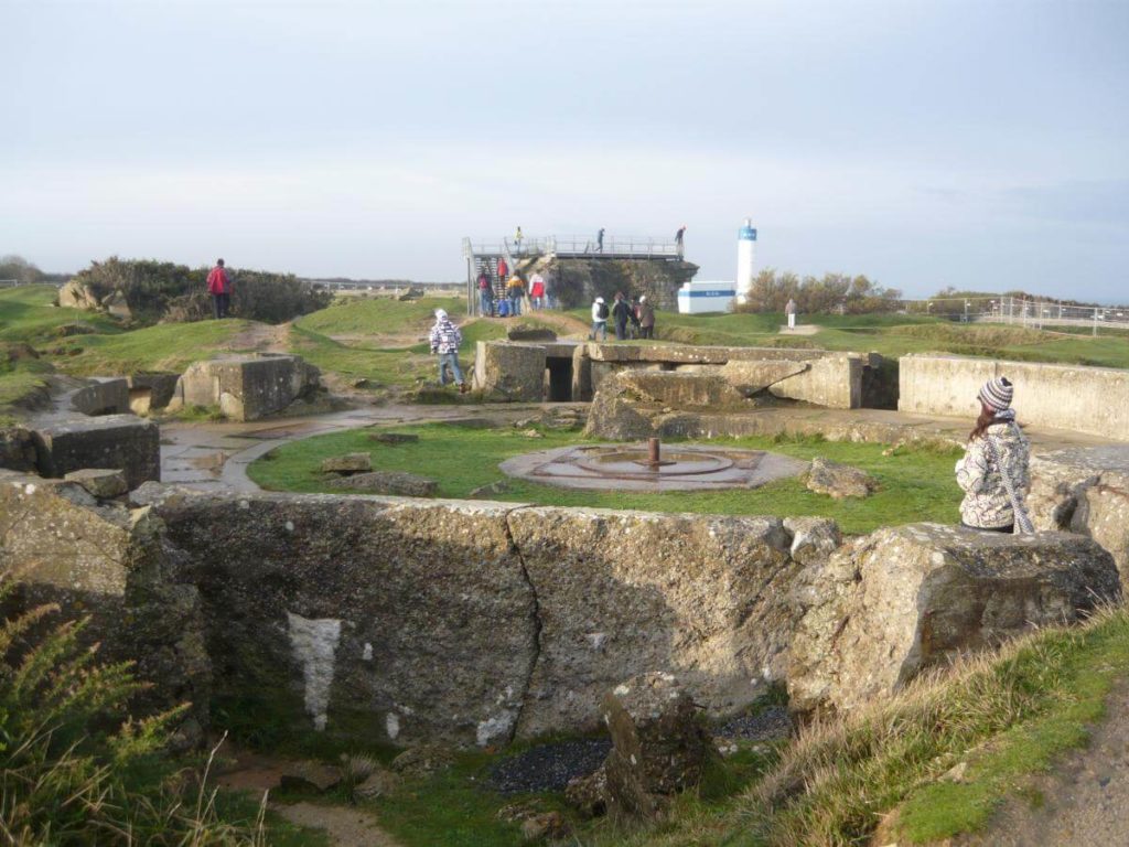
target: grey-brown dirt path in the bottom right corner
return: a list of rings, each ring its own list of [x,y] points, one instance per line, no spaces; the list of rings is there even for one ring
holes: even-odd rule
[[[1041,809],[1008,801],[989,832],[961,847],[1126,847],[1129,845],[1129,680],[1106,704],[1106,721],[1086,750],[1074,753],[1035,788]]]

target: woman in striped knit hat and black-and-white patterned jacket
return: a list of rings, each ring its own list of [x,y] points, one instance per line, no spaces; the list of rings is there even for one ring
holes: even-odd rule
[[[1033,532],[1024,505],[1030,480],[1031,447],[1015,422],[1014,386],[994,377],[977,394],[980,416],[969,446],[956,463],[956,482],[964,491],[961,523],[992,532]]]

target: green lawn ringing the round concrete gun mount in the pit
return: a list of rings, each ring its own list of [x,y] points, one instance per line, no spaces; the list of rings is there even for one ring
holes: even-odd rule
[[[465,498],[491,482],[507,480],[498,464],[510,456],[569,444],[588,443],[578,433],[543,430],[527,438],[516,430],[466,429],[446,424],[397,427],[417,433],[414,444],[390,446],[369,439],[371,429],[315,436],[282,445],[248,468],[263,488],[288,491],[336,491],[318,468],[323,459],[342,453],[369,453],[376,470],[409,471],[439,482],[440,497]],[[879,489],[866,499],[833,500],[808,491],[798,479],[778,480],[756,489],[728,491],[579,491],[510,480],[505,494],[491,499],[553,506],[592,506],[649,512],[693,512],[719,515],[817,515],[833,517],[843,532],[865,533],[884,525],[917,521],[955,523],[960,489],[953,481],[959,452],[902,447],[892,455],[881,444],[850,444],[817,439],[734,438],[709,444],[769,449],[811,460],[824,456],[872,473]]]

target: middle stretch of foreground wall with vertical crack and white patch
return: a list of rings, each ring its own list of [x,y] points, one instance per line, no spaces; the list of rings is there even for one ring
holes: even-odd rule
[[[651,665],[711,714],[784,666],[777,518],[299,495],[154,500],[191,560],[220,696],[295,725],[483,744],[595,728]]]

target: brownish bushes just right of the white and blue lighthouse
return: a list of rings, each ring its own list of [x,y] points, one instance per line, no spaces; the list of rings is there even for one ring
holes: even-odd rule
[[[799,277],[791,271],[765,268],[753,280],[747,302],[738,312],[784,312],[789,299],[802,313],[843,313],[860,315],[870,312],[896,312],[902,307],[902,292],[883,288],[859,274],[824,273],[822,277]]]

